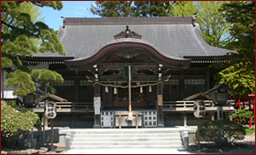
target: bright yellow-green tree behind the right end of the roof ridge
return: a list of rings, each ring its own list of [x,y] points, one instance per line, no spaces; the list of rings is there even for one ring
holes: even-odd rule
[[[229,36],[228,23],[223,12],[218,9],[223,1],[177,1],[170,2],[169,15],[195,15],[195,22],[200,25],[206,42],[213,47],[225,47],[232,39]]]

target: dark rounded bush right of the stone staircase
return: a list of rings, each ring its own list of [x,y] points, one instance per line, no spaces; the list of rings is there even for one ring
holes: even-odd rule
[[[197,137],[197,130],[196,130]],[[229,146],[234,140],[244,140],[245,128],[234,121],[210,120],[200,124],[200,140],[212,142],[216,146]]]

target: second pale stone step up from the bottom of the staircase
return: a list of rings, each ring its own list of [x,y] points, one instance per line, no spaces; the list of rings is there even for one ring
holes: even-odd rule
[[[164,141],[72,141],[72,146],[106,146],[106,145],[182,145],[181,140]]]

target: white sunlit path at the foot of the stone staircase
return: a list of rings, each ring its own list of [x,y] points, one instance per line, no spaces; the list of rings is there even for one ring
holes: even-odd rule
[[[63,154],[191,154],[183,149],[97,149],[67,150]]]

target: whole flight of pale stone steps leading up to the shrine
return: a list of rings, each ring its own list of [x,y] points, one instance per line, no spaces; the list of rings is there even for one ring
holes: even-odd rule
[[[184,149],[179,129],[75,129],[71,149]]]

